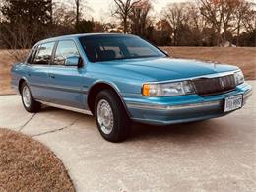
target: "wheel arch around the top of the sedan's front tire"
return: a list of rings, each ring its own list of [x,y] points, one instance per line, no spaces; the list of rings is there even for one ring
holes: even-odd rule
[[[129,117],[130,116],[130,113],[128,111],[128,108],[122,98],[122,96],[120,95],[120,91],[119,89],[114,86],[114,84],[112,83],[108,83],[108,82],[104,82],[104,81],[99,81],[99,82],[96,82],[93,86],[91,86],[91,88],[89,89],[88,91],[88,96],[87,96],[87,104],[88,104],[88,107],[90,109],[90,111],[94,114],[94,111],[95,111],[95,98],[96,98],[96,95],[102,91],[102,90],[105,90],[105,89],[110,89],[112,90],[119,98],[119,100],[121,101],[127,115]]]

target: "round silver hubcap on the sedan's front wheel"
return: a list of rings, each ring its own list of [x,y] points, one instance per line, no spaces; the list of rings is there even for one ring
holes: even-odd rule
[[[96,114],[97,122],[102,132],[107,135],[110,134],[114,126],[113,111],[110,104],[106,100],[101,99],[97,104]]]

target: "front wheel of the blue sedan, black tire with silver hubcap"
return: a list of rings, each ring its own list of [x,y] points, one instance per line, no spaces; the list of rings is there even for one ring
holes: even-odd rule
[[[121,142],[129,134],[130,119],[119,97],[112,90],[96,96],[95,116],[97,128],[104,139]]]

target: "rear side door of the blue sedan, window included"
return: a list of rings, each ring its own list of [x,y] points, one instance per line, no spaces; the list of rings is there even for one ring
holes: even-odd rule
[[[55,42],[37,45],[28,61],[28,81],[32,96],[40,100],[48,100],[48,68]]]

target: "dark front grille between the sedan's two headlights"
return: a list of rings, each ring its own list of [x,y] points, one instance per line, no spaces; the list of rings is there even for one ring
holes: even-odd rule
[[[235,89],[233,75],[218,78],[200,78],[193,80],[196,92],[200,96],[220,94]]]

